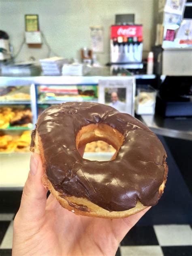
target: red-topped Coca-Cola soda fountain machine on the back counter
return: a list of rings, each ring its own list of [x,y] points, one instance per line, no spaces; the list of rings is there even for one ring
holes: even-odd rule
[[[143,68],[143,26],[111,26],[111,65],[124,68]]]

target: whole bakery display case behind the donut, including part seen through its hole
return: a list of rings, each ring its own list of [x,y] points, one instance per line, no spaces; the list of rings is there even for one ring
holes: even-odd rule
[[[47,107],[62,102],[97,102],[98,83],[103,79],[125,80],[126,77],[110,76],[109,73],[78,77],[0,77],[1,190],[23,188],[29,171],[30,133],[38,115]],[[110,160],[114,152],[107,143],[97,141],[87,144],[83,157],[105,161]]]

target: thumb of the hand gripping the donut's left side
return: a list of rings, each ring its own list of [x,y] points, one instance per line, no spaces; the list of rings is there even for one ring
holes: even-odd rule
[[[18,213],[23,220],[36,221],[45,214],[47,190],[41,177],[44,174],[41,157],[33,153],[30,159],[30,172],[23,188],[21,205]]]

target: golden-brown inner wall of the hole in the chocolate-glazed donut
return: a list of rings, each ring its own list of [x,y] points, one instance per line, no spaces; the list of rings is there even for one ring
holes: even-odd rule
[[[101,147],[111,147],[111,151],[113,152],[116,150],[112,158],[115,159],[123,141],[124,136],[108,124],[89,124],[83,126],[81,130],[79,130],[76,137],[76,147],[77,149],[85,145],[90,147],[90,143],[94,144],[93,142],[97,142],[97,145],[100,145]]]

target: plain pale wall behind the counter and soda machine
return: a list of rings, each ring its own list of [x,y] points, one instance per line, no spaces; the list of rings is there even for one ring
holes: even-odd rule
[[[154,43],[154,15],[156,0],[0,0],[0,30],[10,36],[15,53],[23,41],[25,14],[38,14],[40,30],[45,34],[53,51],[65,58],[79,58],[81,47],[90,47],[92,25],[104,27],[104,53],[102,63],[110,60],[109,32],[115,14],[134,13],[135,22],[143,24],[146,57]],[[30,49],[23,46],[17,61],[47,57],[47,46]],[[52,54],[53,55],[53,54]]]

